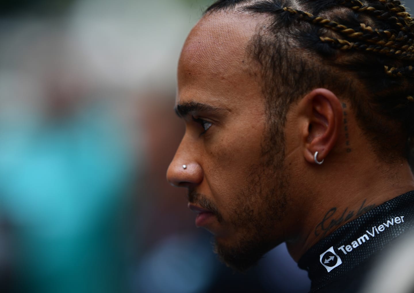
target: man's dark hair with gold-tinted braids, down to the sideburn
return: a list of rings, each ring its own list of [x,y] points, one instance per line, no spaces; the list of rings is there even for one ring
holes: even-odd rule
[[[206,13],[223,9],[268,16],[248,53],[260,65],[271,130],[281,130],[292,102],[325,87],[350,103],[382,159],[407,157],[414,21],[399,0],[219,0]]]

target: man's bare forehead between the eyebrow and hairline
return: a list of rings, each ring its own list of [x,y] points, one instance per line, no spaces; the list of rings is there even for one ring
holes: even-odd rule
[[[178,62],[178,103],[205,97],[209,102],[223,102],[224,97],[228,101],[241,92],[241,85],[258,87],[257,66],[246,49],[261,18],[221,11],[207,14],[197,23]]]

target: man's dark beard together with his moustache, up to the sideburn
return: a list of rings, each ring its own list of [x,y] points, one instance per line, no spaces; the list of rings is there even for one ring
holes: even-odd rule
[[[280,139],[279,143],[283,142],[283,138]],[[189,190],[190,202],[211,210],[219,223],[231,224],[238,232],[236,241],[231,244],[217,239],[213,242],[219,259],[236,271],[246,271],[282,242],[279,240],[281,233],[274,231],[280,227],[288,198],[289,175],[284,172],[284,143],[282,146],[270,150],[262,146],[262,160],[250,167],[246,187],[239,193],[228,223],[212,201]]]

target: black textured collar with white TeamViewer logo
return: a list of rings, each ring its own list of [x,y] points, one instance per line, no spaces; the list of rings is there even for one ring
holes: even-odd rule
[[[357,292],[379,252],[414,229],[414,191],[393,198],[328,235],[299,260],[310,292]]]

